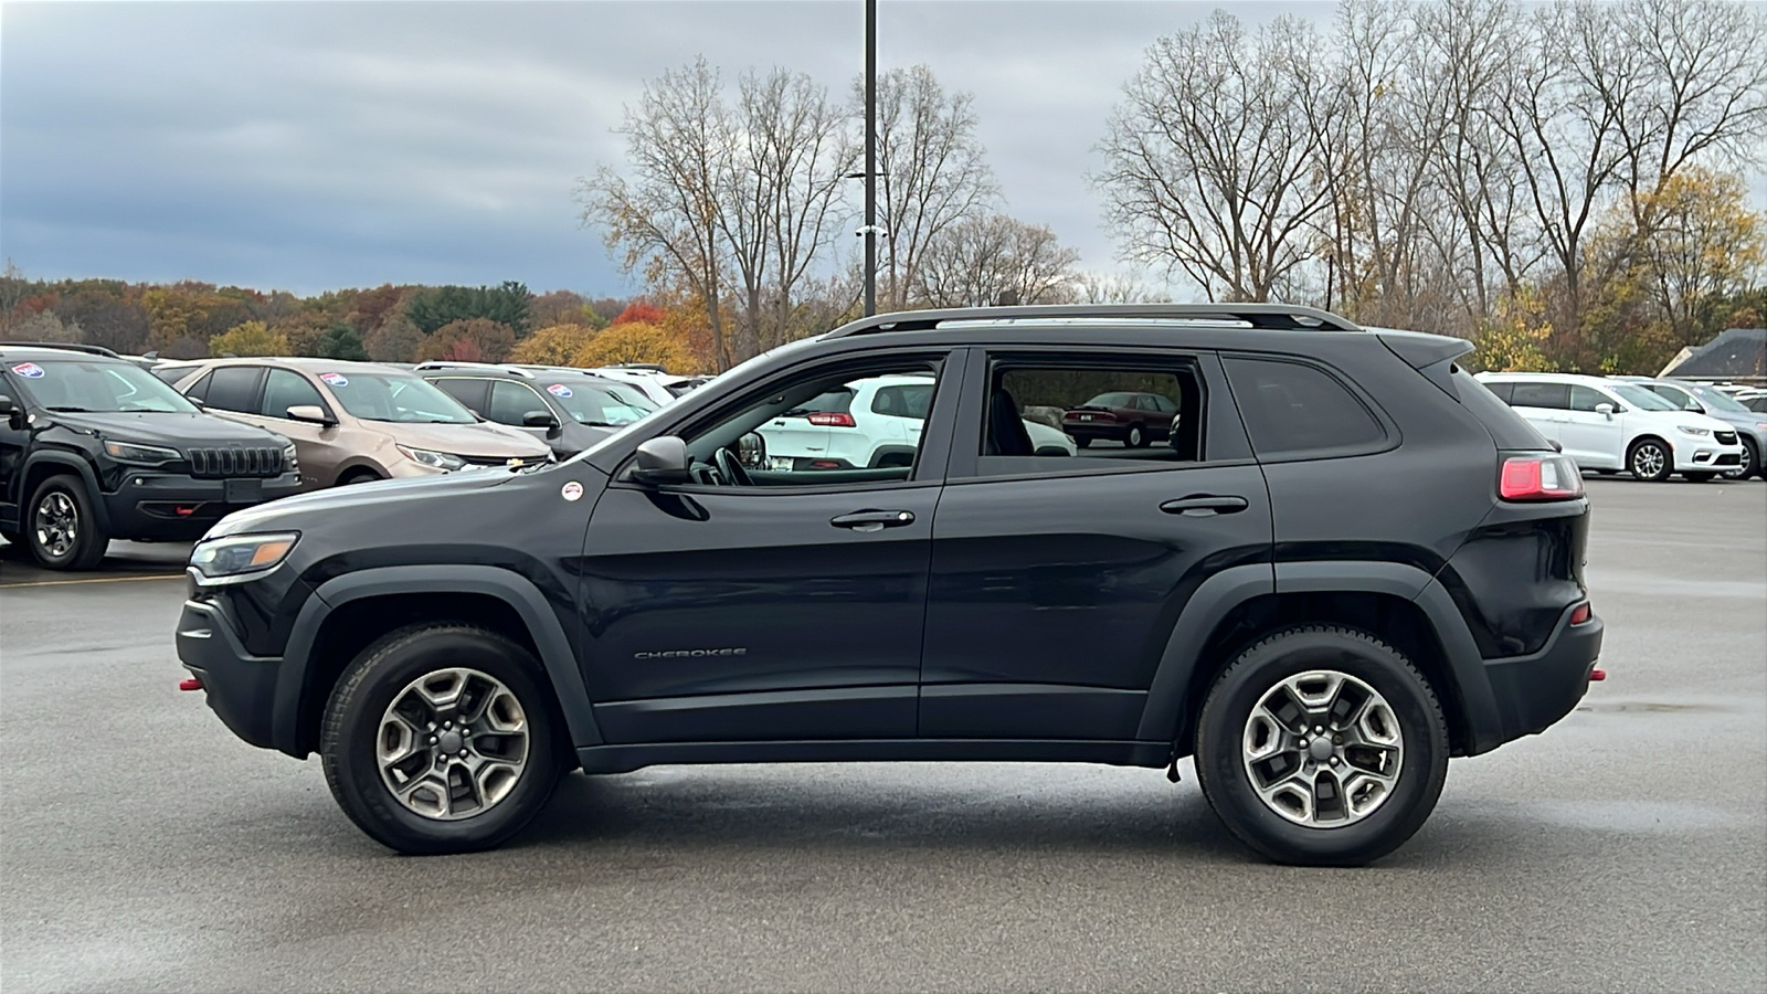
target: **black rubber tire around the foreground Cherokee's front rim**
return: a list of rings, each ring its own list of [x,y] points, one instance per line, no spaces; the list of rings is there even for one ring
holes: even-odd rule
[[[396,697],[419,677],[456,667],[502,681],[514,695],[528,730],[527,766],[488,810],[442,821],[392,794],[382,780],[376,739]],[[474,853],[500,845],[546,807],[565,769],[560,757],[569,741],[541,672],[527,649],[482,628],[419,624],[385,635],[350,663],[325,704],[320,755],[337,807],[364,833],[399,853]]]

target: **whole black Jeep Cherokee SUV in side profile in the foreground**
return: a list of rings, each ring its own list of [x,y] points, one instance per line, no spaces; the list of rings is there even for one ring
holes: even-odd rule
[[[573,768],[1194,755],[1253,849],[1361,863],[1601,647],[1581,479],[1468,348],[1269,304],[864,318],[557,467],[231,515],[178,656],[406,853],[509,838]],[[767,456],[871,377],[935,384],[912,465]],[[1106,391],[1179,433],[1035,455],[1023,407]]]

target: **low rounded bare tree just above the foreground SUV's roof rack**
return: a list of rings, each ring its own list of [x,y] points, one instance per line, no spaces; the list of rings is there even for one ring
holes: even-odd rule
[[[970,216],[928,246],[912,294],[933,308],[1060,304],[1074,297],[1078,262],[1050,228]]]

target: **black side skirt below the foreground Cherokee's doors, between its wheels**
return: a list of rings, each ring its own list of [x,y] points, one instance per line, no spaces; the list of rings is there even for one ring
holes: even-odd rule
[[[1073,739],[829,739],[774,743],[601,745],[576,750],[583,773],[677,762],[1103,762],[1161,769],[1172,743]]]

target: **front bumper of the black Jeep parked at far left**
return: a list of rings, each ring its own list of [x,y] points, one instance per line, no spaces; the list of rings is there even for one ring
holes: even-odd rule
[[[166,472],[131,472],[104,493],[106,531],[113,538],[193,541],[233,511],[288,497],[300,474],[272,479],[193,479]]]

